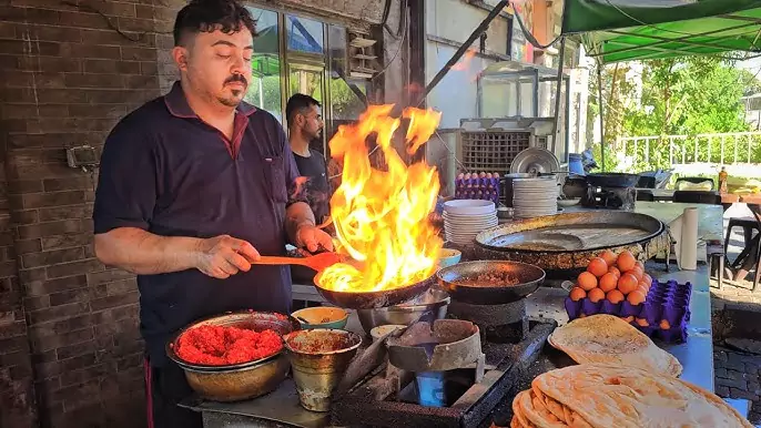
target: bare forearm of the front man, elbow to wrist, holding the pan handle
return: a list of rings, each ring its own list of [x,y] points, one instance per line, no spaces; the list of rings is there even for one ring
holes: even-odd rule
[[[202,242],[120,227],[95,235],[95,255],[105,265],[138,275],[164,274],[195,268]]]

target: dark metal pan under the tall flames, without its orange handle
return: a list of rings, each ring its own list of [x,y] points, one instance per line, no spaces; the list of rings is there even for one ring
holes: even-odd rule
[[[322,288],[316,281],[315,287],[321,296],[338,307],[349,309],[377,309],[412,300],[425,293],[435,283],[436,276],[430,276],[428,279],[399,288],[359,293],[335,292]]]

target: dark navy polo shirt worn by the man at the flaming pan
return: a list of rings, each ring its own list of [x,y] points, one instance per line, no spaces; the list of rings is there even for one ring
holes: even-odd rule
[[[263,255],[285,253],[285,207],[298,171],[283,128],[270,113],[241,103],[234,137],[203,122],[179,82],[122,119],[100,165],[95,233],[139,227],[161,236],[248,241]],[[227,279],[197,269],[138,276],[141,333],[152,364],[191,322],[226,310],[287,314],[287,267],[252,266]]]

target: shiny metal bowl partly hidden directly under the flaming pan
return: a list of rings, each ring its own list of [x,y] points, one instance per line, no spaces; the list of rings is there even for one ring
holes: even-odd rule
[[[444,319],[447,316],[447,305],[449,305],[449,302],[447,292],[432,287],[419,297],[402,305],[377,309],[357,309],[357,316],[359,317],[362,328],[369,335],[369,332],[377,326],[387,324],[409,325],[420,318],[426,312],[430,312],[430,314],[424,316],[420,320],[433,322],[435,319]]]

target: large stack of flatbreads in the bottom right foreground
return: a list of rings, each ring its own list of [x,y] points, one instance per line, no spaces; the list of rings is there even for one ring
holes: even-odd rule
[[[511,428],[752,428],[721,398],[635,367],[582,364],[539,375],[513,401]]]

